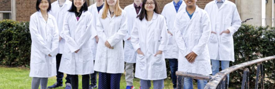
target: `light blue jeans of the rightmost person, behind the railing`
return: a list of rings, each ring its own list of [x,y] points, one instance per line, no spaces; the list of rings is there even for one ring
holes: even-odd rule
[[[222,70],[229,67],[229,62],[230,61],[221,61]],[[219,72],[220,61],[211,59],[211,64],[212,64],[212,75],[215,75]],[[229,84],[229,74],[227,74],[227,83]]]

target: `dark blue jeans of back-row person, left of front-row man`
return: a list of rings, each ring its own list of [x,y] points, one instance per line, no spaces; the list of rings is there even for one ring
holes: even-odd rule
[[[177,59],[168,59],[171,69],[172,83],[173,87],[176,87],[176,71],[178,70],[178,60]]]

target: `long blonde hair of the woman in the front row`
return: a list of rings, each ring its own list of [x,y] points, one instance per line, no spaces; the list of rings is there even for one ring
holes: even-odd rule
[[[106,2],[104,3],[104,10],[103,10],[103,14],[102,14],[102,19],[105,19],[107,18],[107,14],[108,14],[108,10],[109,10],[109,5],[107,3],[107,0],[105,0]],[[122,12],[122,9],[120,8],[119,6],[119,0],[117,0],[117,3],[115,5],[115,11],[114,11],[114,15],[117,17],[117,16],[120,16],[121,15],[121,12]]]

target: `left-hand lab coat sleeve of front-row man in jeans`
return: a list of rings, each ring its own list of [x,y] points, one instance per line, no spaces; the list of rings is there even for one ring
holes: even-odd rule
[[[179,52],[181,52],[181,55],[185,57],[187,54],[190,53],[190,49],[188,49],[185,45],[185,40],[183,39],[183,36],[181,35],[181,16],[180,14],[176,15],[176,19],[174,22],[174,36],[176,44],[179,47]]]

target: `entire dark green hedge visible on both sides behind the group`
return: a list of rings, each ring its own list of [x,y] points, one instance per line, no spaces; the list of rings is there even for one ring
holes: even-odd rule
[[[275,55],[275,28],[242,25],[234,34],[235,62],[230,66],[262,57]],[[29,66],[31,38],[29,22],[13,20],[0,21],[0,65]],[[274,62],[265,61],[265,87],[273,88],[275,81]],[[171,77],[168,60],[167,75]],[[255,85],[256,65],[247,67],[250,70],[250,87]],[[243,70],[230,74],[230,86],[240,87]]]

